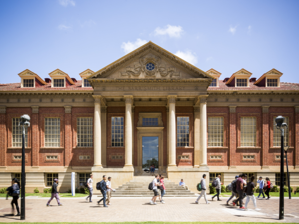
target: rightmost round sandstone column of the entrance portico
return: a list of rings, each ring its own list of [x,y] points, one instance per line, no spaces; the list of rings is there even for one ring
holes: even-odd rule
[[[208,166],[207,164],[207,97],[200,96],[200,166]]]

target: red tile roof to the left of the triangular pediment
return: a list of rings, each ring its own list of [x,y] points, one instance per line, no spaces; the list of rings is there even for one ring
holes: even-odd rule
[[[48,85],[43,85],[35,88],[21,88],[21,83],[8,83],[8,84],[0,84],[0,91],[90,91],[93,90],[92,87],[83,87],[82,88],[82,80],[78,80],[75,85],[71,85],[68,87],[51,87],[51,83]]]

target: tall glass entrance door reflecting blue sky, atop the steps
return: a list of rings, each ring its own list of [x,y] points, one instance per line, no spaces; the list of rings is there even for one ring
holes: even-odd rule
[[[158,148],[158,136],[142,137],[142,169],[149,169],[152,164],[155,164],[156,170],[158,169]]]

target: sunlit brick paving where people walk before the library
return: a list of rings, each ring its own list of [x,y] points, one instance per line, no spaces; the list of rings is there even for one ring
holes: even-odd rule
[[[60,198],[63,206],[56,201],[47,207],[48,198],[26,198],[26,220],[24,222],[293,222],[299,223],[297,204],[299,198],[285,199],[285,214],[298,218],[278,220],[279,199],[257,200],[257,206],[262,208],[260,213],[248,212],[226,205],[228,197],[221,197],[222,201],[212,201],[210,204],[195,204],[196,197],[165,197],[165,204],[150,205],[150,197],[112,197],[109,208],[103,204],[97,205],[100,197],[94,197],[92,203],[84,198]],[[0,222],[16,222],[19,217],[9,216],[11,213],[11,198],[0,198]],[[204,202],[204,199],[200,199]],[[245,201],[244,201],[245,202]],[[20,199],[19,199],[20,204]],[[249,202],[249,209],[253,203]],[[16,211],[15,211],[16,214]],[[22,221],[19,221],[22,222]]]

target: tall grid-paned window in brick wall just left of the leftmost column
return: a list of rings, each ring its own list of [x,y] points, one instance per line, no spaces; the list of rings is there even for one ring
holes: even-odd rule
[[[92,117],[77,117],[77,146],[93,147]]]

